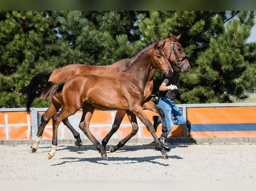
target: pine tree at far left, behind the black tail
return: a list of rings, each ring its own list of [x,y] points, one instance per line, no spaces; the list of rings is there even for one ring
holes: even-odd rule
[[[55,39],[45,11],[4,11],[0,21],[0,107],[22,107],[26,86],[47,68],[47,45]]]

